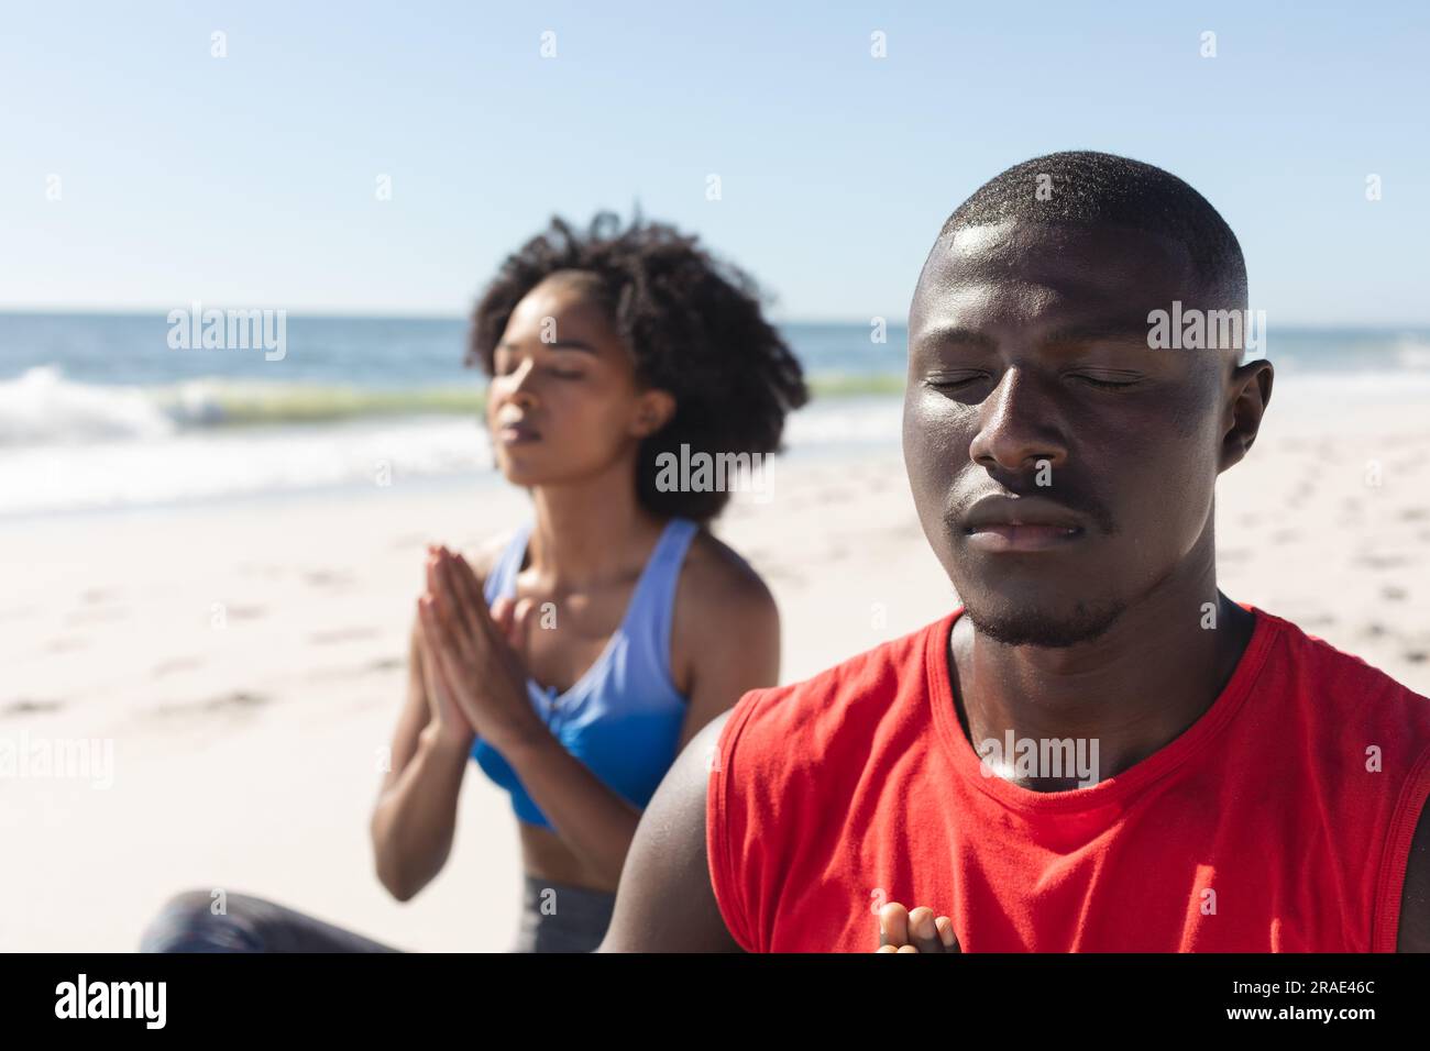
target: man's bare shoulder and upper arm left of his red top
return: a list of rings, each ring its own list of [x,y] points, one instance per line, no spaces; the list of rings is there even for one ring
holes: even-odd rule
[[[711,756],[729,712],[696,734],[655,789],[631,841],[598,952],[739,952],[705,858]]]

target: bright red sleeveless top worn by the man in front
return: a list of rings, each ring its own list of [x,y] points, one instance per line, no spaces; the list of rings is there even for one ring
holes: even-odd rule
[[[1430,699],[1241,605],[1256,628],[1213,706],[1065,792],[984,776],[948,676],[961,608],[746,694],[706,798],[735,941],[868,952],[898,901],[968,952],[1393,952]]]

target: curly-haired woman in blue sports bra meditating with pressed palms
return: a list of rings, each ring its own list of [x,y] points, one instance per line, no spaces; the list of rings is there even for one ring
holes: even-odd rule
[[[774,685],[764,582],[705,528],[729,499],[678,490],[661,455],[771,453],[807,400],[758,289],[695,237],[609,213],[553,220],[476,306],[496,462],[533,516],[472,559],[428,558],[408,701],[372,818],[399,899],[446,862],[468,759],[511,794],[525,871],[518,951],[591,951],[641,811],[685,744]],[[383,949],[256,898],[183,895],[147,948]]]

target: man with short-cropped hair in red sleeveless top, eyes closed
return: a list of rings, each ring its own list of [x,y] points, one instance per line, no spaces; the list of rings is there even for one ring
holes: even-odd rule
[[[694,739],[602,948],[1430,949],[1430,701],[1217,589],[1273,369],[1150,322],[1246,306],[1167,172],[1058,153],[974,193],[904,405],[964,606]]]

